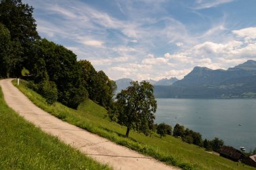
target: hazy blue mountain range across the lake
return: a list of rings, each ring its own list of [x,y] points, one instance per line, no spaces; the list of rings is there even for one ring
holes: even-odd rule
[[[117,80],[117,93],[131,79]],[[157,98],[243,98],[256,97],[256,61],[247,60],[227,70],[195,67],[183,79],[149,80]]]

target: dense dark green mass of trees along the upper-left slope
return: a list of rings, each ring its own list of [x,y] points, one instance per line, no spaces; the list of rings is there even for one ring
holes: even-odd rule
[[[113,107],[114,81],[87,60],[77,62],[71,50],[41,39],[28,4],[0,2],[0,77],[25,76],[49,104],[77,108],[90,97],[106,109]]]

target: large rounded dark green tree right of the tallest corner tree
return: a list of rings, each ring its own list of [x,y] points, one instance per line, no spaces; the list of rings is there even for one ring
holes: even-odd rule
[[[76,55],[46,39],[37,40],[32,49],[34,67],[31,74],[35,83],[40,83],[49,76],[49,81],[57,85],[58,101],[77,108],[88,97],[88,92],[82,85],[82,72]]]

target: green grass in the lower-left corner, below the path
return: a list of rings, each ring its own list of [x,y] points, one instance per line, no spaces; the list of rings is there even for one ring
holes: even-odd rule
[[[110,169],[18,116],[0,87],[0,169]]]

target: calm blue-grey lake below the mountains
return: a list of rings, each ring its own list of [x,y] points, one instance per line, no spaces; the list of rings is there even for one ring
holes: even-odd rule
[[[185,128],[212,140],[218,137],[226,145],[246,151],[256,147],[256,99],[156,99],[157,124]],[[241,125],[241,126],[239,126]]]

